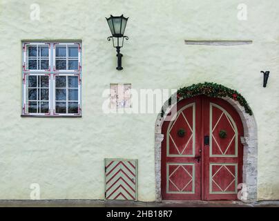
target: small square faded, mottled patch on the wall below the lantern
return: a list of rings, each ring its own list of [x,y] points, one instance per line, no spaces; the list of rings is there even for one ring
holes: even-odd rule
[[[131,84],[110,84],[110,108],[131,108]]]

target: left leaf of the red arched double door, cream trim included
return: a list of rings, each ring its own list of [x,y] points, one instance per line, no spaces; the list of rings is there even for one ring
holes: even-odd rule
[[[177,104],[177,114],[165,122],[162,148],[162,198],[166,200],[199,200],[201,197],[200,100],[187,99]],[[178,132],[184,131],[184,135]]]

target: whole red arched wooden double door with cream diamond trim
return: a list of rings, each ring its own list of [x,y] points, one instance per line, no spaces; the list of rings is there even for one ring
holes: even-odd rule
[[[228,102],[205,96],[182,99],[162,133],[163,200],[237,200],[243,128]]]

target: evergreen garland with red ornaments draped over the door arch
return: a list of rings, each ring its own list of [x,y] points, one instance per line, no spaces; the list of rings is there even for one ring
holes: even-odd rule
[[[177,100],[180,98],[195,97],[198,95],[206,95],[208,97],[231,97],[235,101],[244,107],[245,112],[249,115],[253,115],[249,104],[246,99],[242,97],[240,93],[236,90],[231,90],[221,84],[215,84],[210,82],[204,82],[203,84],[193,84],[188,87],[180,88],[177,90]],[[170,103],[170,102],[169,102]],[[164,116],[164,111],[162,110],[161,116]]]

